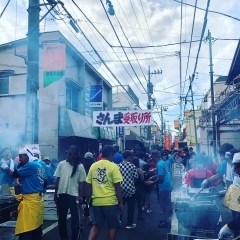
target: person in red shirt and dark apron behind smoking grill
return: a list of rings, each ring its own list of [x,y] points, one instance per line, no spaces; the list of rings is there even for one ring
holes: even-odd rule
[[[191,188],[201,188],[202,182],[213,174],[205,168],[205,156],[198,155],[194,158],[194,161],[195,168],[188,171],[185,184]]]

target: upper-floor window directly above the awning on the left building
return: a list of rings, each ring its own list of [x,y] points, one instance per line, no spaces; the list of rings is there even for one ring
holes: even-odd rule
[[[66,86],[66,107],[74,112],[79,112],[79,90],[70,84]]]

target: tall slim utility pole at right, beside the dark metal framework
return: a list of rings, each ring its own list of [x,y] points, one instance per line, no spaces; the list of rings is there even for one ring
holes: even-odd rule
[[[210,60],[210,86],[211,86],[211,106],[212,106],[212,140],[213,140],[213,156],[216,157],[216,149],[217,149],[217,141],[216,141],[216,121],[215,114],[213,112],[214,107],[214,85],[213,85],[213,63],[212,63],[212,36],[211,32],[208,30],[207,36],[208,44],[209,44],[209,60]]]

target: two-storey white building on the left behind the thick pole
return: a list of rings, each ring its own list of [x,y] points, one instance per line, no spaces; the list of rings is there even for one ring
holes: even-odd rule
[[[112,109],[112,86],[59,32],[40,34],[39,46],[66,44],[65,77],[43,87],[43,48],[39,48],[39,146],[43,155],[65,158],[70,145],[81,153],[98,152],[99,142],[113,143],[112,129],[92,127],[89,107],[91,85],[103,86],[103,108]],[[16,54],[15,54],[16,53]],[[25,144],[27,39],[0,45],[0,141],[1,147],[18,150]],[[102,110],[102,109],[96,109]],[[107,132],[107,134],[105,134]]]

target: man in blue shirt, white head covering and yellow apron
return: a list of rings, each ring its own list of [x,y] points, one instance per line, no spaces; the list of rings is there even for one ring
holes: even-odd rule
[[[14,178],[21,178],[22,183],[22,194],[17,199],[20,203],[15,234],[19,235],[19,240],[40,240],[44,210],[44,168],[28,148],[20,150],[19,159],[20,164],[14,171],[7,166],[5,168]]]

